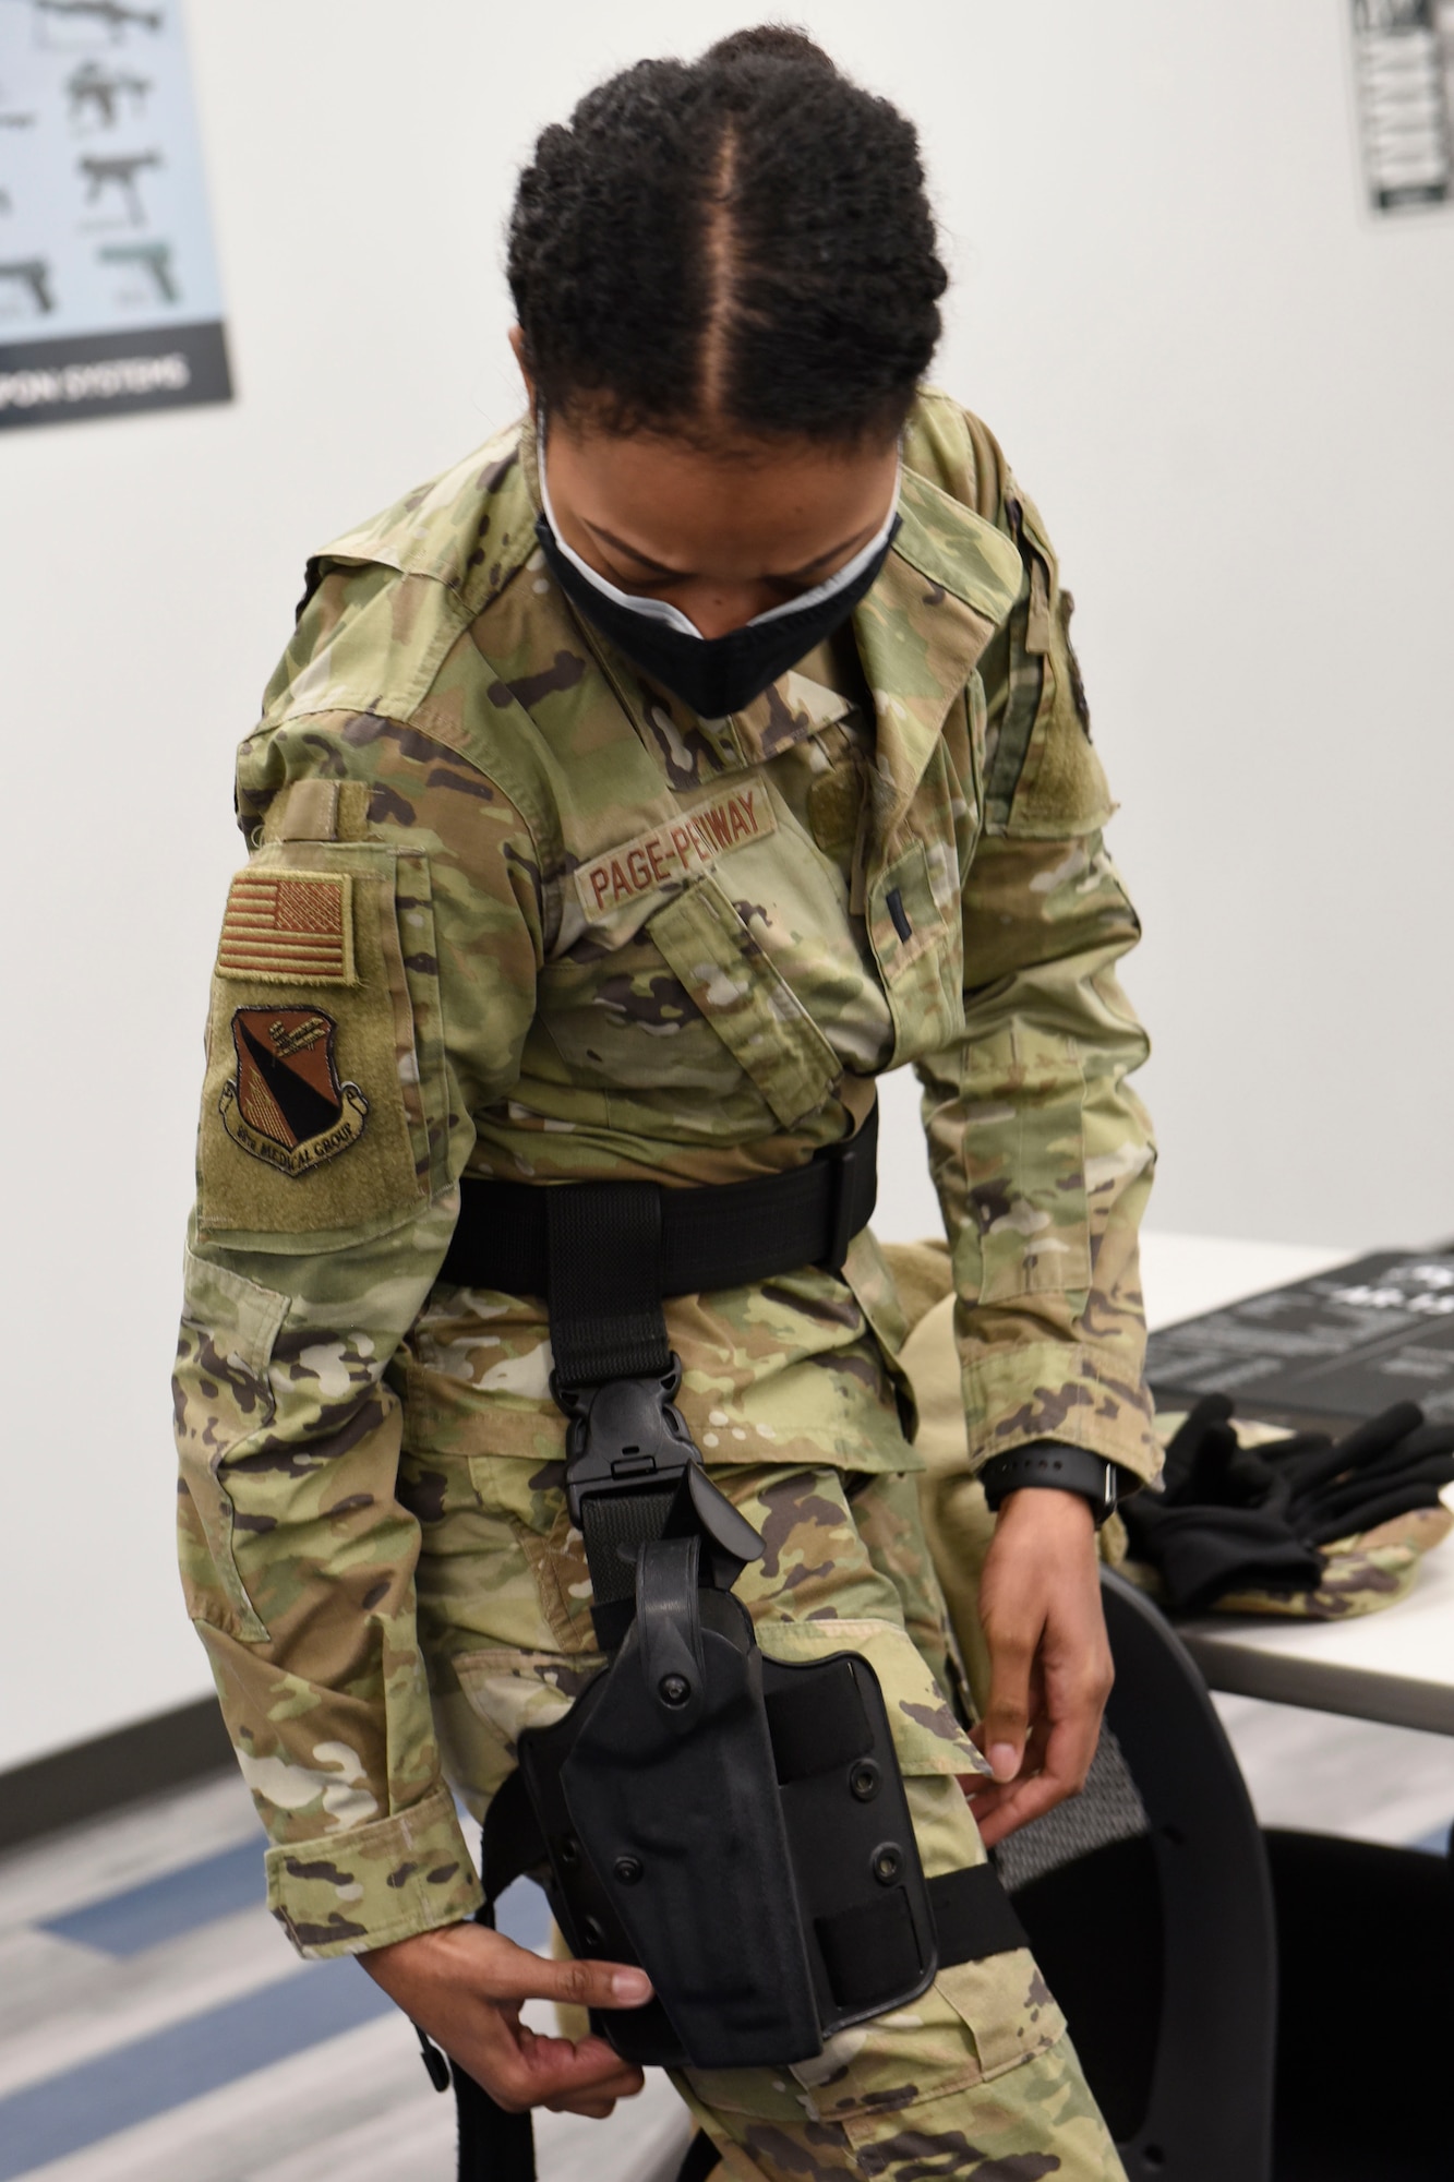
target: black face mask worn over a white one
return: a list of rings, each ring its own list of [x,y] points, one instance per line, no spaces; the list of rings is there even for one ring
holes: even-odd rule
[[[688,637],[681,628],[666,628],[662,622],[633,613],[631,607],[618,607],[613,598],[587,583],[579,567],[572,567],[546,517],[541,515],[535,524],[546,567],[572,607],[603,637],[609,637],[631,666],[679,696],[703,720],[725,720],[729,711],[742,711],[779,674],[797,666],[814,644],[832,637],[834,628],[847,622],[854,607],[878,583],[897,530],[899,517],[862,574],[834,591],[832,598],[821,598],[817,607],[784,613],[777,622],[764,622],[762,628],[731,628],[725,637]]]

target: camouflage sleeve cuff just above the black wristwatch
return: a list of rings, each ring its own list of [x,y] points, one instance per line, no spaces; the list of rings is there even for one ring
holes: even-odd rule
[[[1161,1468],[1151,1394],[1118,1359],[1061,1342],[1011,1342],[965,1366],[969,1466],[1030,1440],[1061,1440],[1105,1455],[1142,1482]]]

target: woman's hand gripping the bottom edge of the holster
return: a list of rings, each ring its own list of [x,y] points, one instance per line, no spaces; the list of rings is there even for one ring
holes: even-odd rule
[[[605,2121],[642,2088],[640,2069],[605,2038],[539,2038],[520,2021],[522,2001],[640,2007],[644,1970],[616,1962],[546,1962],[485,1925],[445,1925],[358,1957],[419,2029],[441,2045],[496,2106],[511,2114],[550,2106]]]

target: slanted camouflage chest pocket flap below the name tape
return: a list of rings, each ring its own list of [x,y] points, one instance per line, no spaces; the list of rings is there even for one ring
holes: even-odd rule
[[[784,1128],[823,1104],[843,1065],[710,873],[646,936]]]

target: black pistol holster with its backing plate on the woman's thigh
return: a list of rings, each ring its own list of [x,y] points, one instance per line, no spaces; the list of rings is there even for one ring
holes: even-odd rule
[[[642,2064],[808,2060],[934,1975],[873,1669],[762,1656],[729,1591],[760,1551],[692,1458],[668,1530],[635,1549],[611,1665],[520,1737],[572,1953],[640,1962],[657,1988],[596,2023]]]

